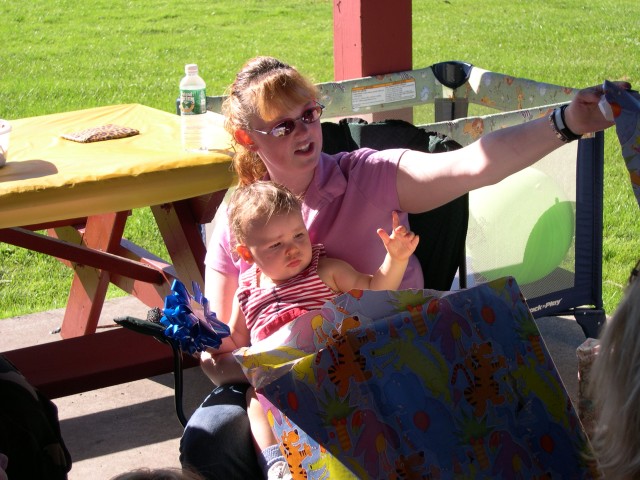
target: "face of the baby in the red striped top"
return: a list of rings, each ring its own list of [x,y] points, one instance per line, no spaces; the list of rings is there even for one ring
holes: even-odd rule
[[[302,214],[291,212],[254,222],[238,252],[245,260],[255,262],[274,283],[297,275],[311,262],[311,240]]]

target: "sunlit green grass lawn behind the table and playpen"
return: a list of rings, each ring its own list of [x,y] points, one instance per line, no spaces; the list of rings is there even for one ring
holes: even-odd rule
[[[133,102],[173,112],[184,64],[198,63],[208,93],[221,94],[259,54],[330,81],[332,9],[329,0],[0,0],[0,117]],[[608,78],[637,87],[638,31],[635,0],[416,0],[413,65],[464,60],[559,85]],[[605,162],[603,297],[611,313],[640,238],[638,206],[611,129]],[[155,231],[150,211],[141,210],[126,235],[166,258]],[[57,261],[0,243],[0,318],[63,307],[70,281]]]

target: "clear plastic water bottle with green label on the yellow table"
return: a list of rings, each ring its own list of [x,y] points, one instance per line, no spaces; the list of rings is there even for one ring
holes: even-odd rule
[[[188,151],[207,150],[206,147],[206,84],[198,75],[198,65],[184,67],[180,81],[180,117],[182,120],[182,147]]]

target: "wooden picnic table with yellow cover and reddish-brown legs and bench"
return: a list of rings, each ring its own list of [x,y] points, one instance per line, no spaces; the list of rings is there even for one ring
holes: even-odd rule
[[[12,122],[8,162],[0,168],[0,241],[56,257],[74,271],[61,339],[3,352],[48,396],[171,371],[166,346],[96,327],[110,283],[149,307],[162,306],[174,278],[204,284],[201,224],[211,221],[233,182],[229,137],[221,117],[207,115],[214,119],[213,147],[201,153],[183,151],[177,115],[138,104]],[[108,124],[139,134],[94,143],[61,137]],[[123,236],[132,210],[145,207],[170,262]]]

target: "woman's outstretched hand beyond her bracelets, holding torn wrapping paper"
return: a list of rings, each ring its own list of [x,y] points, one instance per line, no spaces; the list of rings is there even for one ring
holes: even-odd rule
[[[613,83],[626,90],[631,88],[631,84],[628,82]],[[585,88],[576,94],[564,112],[569,130],[582,135],[598,132],[613,125],[613,122],[604,118],[598,107],[602,95],[604,95],[602,85]]]

